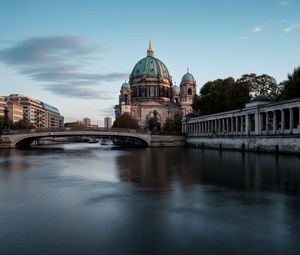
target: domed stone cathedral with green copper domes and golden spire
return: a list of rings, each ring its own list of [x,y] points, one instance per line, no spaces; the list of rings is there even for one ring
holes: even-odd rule
[[[151,118],[163,126],[168,118],[190,113],[195,94],[196,81],[189,71],[183,75],[179,87],[173,85],[166,65],[154,57],[150,41],[147,56],[136,63],[129,82],[121,87],[115,115],[117,118],[129,113],[142,128],[148,126]]]

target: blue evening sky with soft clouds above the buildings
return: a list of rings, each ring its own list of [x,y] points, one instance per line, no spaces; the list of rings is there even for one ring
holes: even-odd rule
[[[53,105],[65,121],[114,117],[122,83],[154,56],[179,85],[300,66],[299,0],[0,0],[0,95]]]

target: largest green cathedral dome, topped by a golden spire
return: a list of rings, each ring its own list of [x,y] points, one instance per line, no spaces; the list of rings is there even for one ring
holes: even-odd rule
[[[171,76],[169,75],[166,65],[153,56],[151,42],[149,43],[147,50],[147,57],[137,62],[130,74],[131,80],[148,77],[165,78],[171,80]]]

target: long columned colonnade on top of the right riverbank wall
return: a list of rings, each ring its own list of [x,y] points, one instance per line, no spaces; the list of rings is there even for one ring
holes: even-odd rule
[[[241,110],[185,119],[188,136],[300,134],[300,98],[281,102],[250,102]]]

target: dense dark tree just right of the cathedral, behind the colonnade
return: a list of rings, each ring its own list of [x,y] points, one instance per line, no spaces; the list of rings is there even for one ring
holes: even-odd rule
[[[248,87],[228,77],[205,83],[192,107],[198,115],[206,115],[243,108],[249,100]]]

